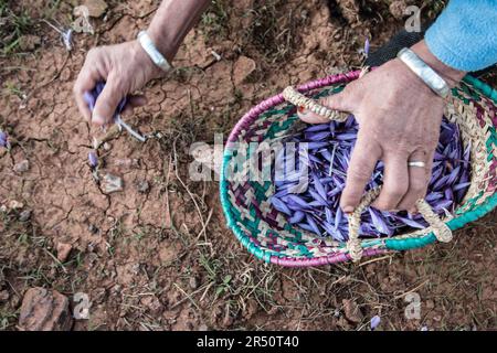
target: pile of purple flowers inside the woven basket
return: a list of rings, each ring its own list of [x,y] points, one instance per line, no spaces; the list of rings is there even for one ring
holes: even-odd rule
[[[289,223],[318,236],[347,240],[348,220],[339,202],[357,132],[353,116],[345,122],[309,125],[288,139],[287,142],[295,142],[295,148],[285,147],[277,153],[275,170],[279,168],[283,178],[275,179],[275,194],[271,202]],[[299,150],[304,142],[307,143],[307,153]],[[425,197],[438,215],[452,213],[469,186],[469,146],[463,149],[457,125],[444,117]],[[300,168],[300,163],[307,165],[308,178],[304,186],[302,176],[306,170]],[[294,168],[288,168],[294,164]],[[381,185],[382,180],[383,163],[380,161],[366,190]],[[374,207],[368,207],[361,221],[362,237],[392,236],[427,226],[419,214],[382,212]]]

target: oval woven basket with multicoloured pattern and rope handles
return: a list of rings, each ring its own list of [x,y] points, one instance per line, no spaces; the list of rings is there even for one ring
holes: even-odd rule
[[[379,190],[371,190],[349,216],[347,243],[318,238],[289,224],[269,202],[274,193],[273,182],[246,178],[245,167],[254,153],[250,142],[282,140],[298,120],[296,105],[339,119],[340,115],[317,106],[315,99],[342,90],[359,75],[359,71],[350,72],[307,83],[296,90],[287,88],[252,108],[231,132],[223,156],[221,202],[228,225],[257,258],[282,266],[307,267],[419,248],[436,240],[448,242],[452,229],[482,217],[497,204],[497,90],[466,76],[446,98],[444,113],[450,121],[459,126],[464,147],[470,143],[470,185],[454,214],[441,220],[424,201],[419,201],[417,208],[430,224],[427,228],[399,236],[362,239],[358,237],[360,214],[379,193]],[[239,153],[248,156],[246,165],[242,168],[235,163],[234,156]]]

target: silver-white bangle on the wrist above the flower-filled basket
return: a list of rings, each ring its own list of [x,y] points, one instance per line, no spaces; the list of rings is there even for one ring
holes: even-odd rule
[[[435,73],[435,71],[423,62],[412,50],[409,47],[401,49],[396,54],[396,57],[408,65],[408,67],[438,96],[442,98],[448,96],[451,89],[445,79]]]

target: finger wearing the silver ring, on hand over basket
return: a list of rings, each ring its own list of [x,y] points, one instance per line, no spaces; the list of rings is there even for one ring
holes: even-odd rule
[[[433,152],[426,153],[425,151],[414,151],[409,161],[420,161],[426,163],[424,168],[409,167],[409,190],[400,202],[399,210],[408,210],[410,213],[415,213],[415,203],[420,199],[424,199],[426,195],[426,189],[430,181]]]

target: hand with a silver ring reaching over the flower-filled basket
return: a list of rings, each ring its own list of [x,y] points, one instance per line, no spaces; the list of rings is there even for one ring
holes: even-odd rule
[[[427,57],[424,43],[420,44],[421,49],[416,45],[417,54],[436,67],[450,85],[464,76],[451,68],[444,71],[440,62],[432,65],[434,61]],[[384,179],[373,206],[383,211],[415,211],[415,202],[426,194],[431,176],[443,99],[395,58],[350,83],[340,94],[321,99],[320,104],[352,113],[359,124],[340,200],[342,211],[351,213],[359,204],[379,160],[384,162]],[[299,113],[299,117],[310,124],[327,120],[307,110]],[[425,168],[409,168],[409,161],[422,161]]]

